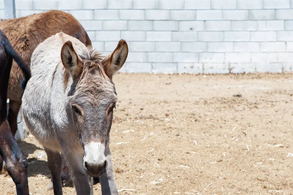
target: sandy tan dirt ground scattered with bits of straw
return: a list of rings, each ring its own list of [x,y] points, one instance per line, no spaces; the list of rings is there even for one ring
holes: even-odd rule
[[[118,189],[132,190],[121,195],[293,195],[293,74],[118,74],[114,83],[110,148]],[[31,194],[53,195],[42,146],[32,135],[20,146]],[[9,176],[0,194],[15,194]]]

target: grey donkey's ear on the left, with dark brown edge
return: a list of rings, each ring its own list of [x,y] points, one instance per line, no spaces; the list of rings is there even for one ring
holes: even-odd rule
[[[80,75],[83,68],[71,41],[67,41],[63,44],[61,49],[61,61],[73,79]]]

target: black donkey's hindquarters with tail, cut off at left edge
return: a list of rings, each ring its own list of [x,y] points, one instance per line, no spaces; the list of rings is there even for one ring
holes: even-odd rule
[[[20,66],[26,86],[30,78],[29,67],[13,49],[5,34],[0,30],[0,155],[6,162],[6,169],[12,177],[18,195],[29,195],[27,181],[27,159],[21,152],[7,121],[7,87],[14,59]]]

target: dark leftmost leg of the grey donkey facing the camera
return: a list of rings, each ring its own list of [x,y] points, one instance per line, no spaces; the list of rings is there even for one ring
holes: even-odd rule
[[[59,152],[53,152],[45,148],[48,156],[48,167],[52,176],[54,195],[62,195],[61,164]]]

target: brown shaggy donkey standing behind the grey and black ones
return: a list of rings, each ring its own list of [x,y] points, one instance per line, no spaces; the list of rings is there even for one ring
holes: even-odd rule
[[[28,65],[30,65],[32,53],[39,43],[61,31],[79,39],[87,46],[91,45],[83,26],[72,15],[57,10],[1,21],[0,29]],[[22,78],[20,68],[13,62],[7,96],[11,102],[16,102],[19,105],[21,105],[22,97]],[[11,112],[12,114],[9,115],[11,118],[8,116],[8,120],[13,124],[10,125],[15,133],[18,110],[12,109]]]

